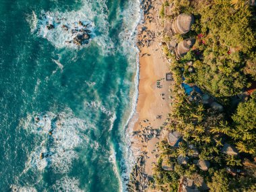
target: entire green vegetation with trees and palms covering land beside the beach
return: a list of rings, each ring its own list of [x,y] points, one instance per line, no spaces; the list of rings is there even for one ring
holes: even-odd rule
[[[192,30],[176,36],[179,40],[193,37],[196,42],[180,60],[164,46],[176,83],[170,93],[171,121],[166,128],[179,132],[182,140],[176,147],[167,139],[158,143],[160,158],[152,185],[162,191],[177,191],[181,179],[189,178],[201,191],[203,183],[208,191],[256,191],[256,91],[247,99],[234,97],[256,80],[255,8],[246,0],[169,3],[174,3],[174,14],[164,18],[160,11],[162,18],[193,14]],[[189,72],[189,61],[193,72]],[[205,104],[196,92],[187,96],[182,82],[199,86],[212,100],[222,103],[224,110]],[[227,143],[233,154],[224,150]],[[187,161],[183,164],[178,157]],[[209,162],[210,167],[203,170],[199,161]],[[164,170],[162,162],[173,169]]]

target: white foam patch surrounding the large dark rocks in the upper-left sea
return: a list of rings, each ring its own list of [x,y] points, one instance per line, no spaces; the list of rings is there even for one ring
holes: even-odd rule
[[[27,16],[30,24],[31,32],[42,38],[49,40],[57,48],[69,47],[71,49],[79,49],[81,46],[69,43],[73,40],[74,34],[63,30],[62,26],[76,27],[79,29],[77,22],[82,21],[88,24],[87,29],[90,30],[89,46],[91,40],[102,49],[102,53],[111,53],[114,44],[108,36],[109,24],[107,21],[108,9],[105,1],[83,0],[83,5],[77,11],[41,11],[38,15],[32,11]],[[46,26],[53,24],[55,28],[49,30]],[[75,25],[75,26],[74,26]]]

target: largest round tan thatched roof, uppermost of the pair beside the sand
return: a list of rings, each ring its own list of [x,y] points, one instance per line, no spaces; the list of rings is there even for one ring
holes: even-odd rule
[[[194,21],[193,15],[181,14],[172,22],[172,31],[174,33],[186,34],[191,30]]]

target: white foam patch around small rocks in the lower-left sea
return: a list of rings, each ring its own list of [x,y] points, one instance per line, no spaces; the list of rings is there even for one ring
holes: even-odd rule
[[[28,157],[25,170],[44,170],[51,166],[55,172],[68,172],[73,160],[78,158],[75,148],[90,140],[82,133],[88,129],[86,122],[75,118],[70,109],[57,115],[49,112],[28,115],[22,122],[21,126],[41,141]]]

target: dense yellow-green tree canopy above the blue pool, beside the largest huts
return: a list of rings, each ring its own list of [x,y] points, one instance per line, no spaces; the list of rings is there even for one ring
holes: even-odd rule
[[[180,11],[173,17],[179,13],[195,15],[193,30],[182,35],[196,38],[193,55],[179,63],[197,61],[197,73],[191,81],[219,100],[241,93],[256,79],[253,9],[248,3],[234,9],[235,2],[226,0],[189,2],[173,1]]]

